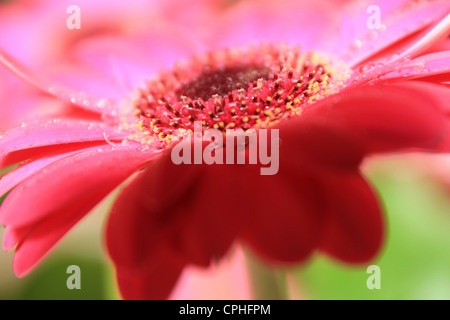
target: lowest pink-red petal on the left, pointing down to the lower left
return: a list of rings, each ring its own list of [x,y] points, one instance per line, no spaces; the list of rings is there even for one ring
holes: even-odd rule
[[[5,249],[9,250],[16,243],[19,244],[14,258],[15,273],[18,276],[24,276],[30,272],[66,232],[151,156],[149,152],[131,148],[121,150],[103,148],[77,154],[60,163],[52,164],[46,172],[35,175],[11,192],[2,205],[0,214],[2,223],[8,230],[4,238]],[[124,157],[127,159],[126,162],[118,161],[118,158]],[[90,164],[87,163],[88,161]],[[64,180],[66,176],[71,175],[70,171],[73,172],[73,168],[68,170],[67,165],[81,168],[78,171],[82,172],[75,172],[75,174],[84,176],[84,185],[80,184],[82,178]],[[99,168],[105,172],[99,174]],[[65,171],[66,174],[60,171]],[[95,179],[92,178],[94,171]],[[63,180],[58,181],[53,174]],[[91,176],[86,178],[89,174]],[[60,189],[52,187],[48,180],[56,181],[53,183],[55,185],[59,183],[57,186]],[[36,188],[36,185],[41,185],[40,183],[45,186],[43,194],[40,192],[42,187]],[[16,192],[19,188],[22,191]],[[58,190],[64,188],[70,188],[71,192],[58,193]],[[60,201],[58,197],[63,199]],[[41,198],[47,200],[41,201]],[[48,200],[50,198],[58,198],[58,201],[50,202]],[[76,200],[80,198],[83,201]],[[24,202],[24,199],[27,201]]]

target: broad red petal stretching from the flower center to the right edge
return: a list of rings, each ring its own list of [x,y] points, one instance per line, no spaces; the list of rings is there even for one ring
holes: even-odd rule
[[[305,109],[289,125],[321,123],[349,136],[366,153],[438,151],[446,139],[449,100],[450,91],[428,83],[355,87]]]

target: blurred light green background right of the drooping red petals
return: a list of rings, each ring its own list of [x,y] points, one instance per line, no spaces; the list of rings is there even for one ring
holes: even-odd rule
[[[442,158],[442,157],[441,157]],[[297,272],[305,295],[318,299],[450,299],[449,167],[433,156],[388,157],[369,166],[368,176],[386,210],[387,238],[380,257],[381,289],[369,290],[366,269],[318,257]],[[450,158],[447,157],[450,163]],[[438,176],[442,175],[441,177]]]

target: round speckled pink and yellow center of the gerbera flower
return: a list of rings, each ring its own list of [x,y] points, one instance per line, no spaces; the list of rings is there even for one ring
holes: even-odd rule
[[[167,146],[175,130],[268,127],[343,85],[349,69],[298,47],[262,45],[196,56],[149,81],[133,98],[130,137]],[[127,125],[129,127],[129,125]]]

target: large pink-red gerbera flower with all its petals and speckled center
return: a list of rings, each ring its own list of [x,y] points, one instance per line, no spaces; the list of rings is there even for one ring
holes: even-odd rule
[[[80,33],[66,28],[68,2],[44,3],[11,9],[21,28],[0,36],[0,60],[79,108],[0,140],[1,167],[26,160],[0,181],[18,276],[129,177],[107,226],[124,298],[168,297],[186,266],[237,241],[273,264],[316,250],[365,263],[384,228],[362,160],[448,151],[450,52],[433,47],[449,33],[447,1],[78,1]],[[366,27],[372,4],[380,30]],[[22,25],[31,14],[35,27]],[[279,129],[279,173],[175,165],[170,135],[194,119]]]

